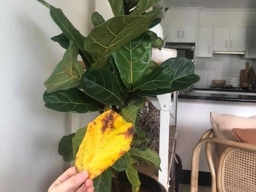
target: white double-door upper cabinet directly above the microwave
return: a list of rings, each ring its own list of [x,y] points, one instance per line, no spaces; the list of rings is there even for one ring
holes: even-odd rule
[[[168,9],[165,13],[166,42],[196,42],[198,9]]]

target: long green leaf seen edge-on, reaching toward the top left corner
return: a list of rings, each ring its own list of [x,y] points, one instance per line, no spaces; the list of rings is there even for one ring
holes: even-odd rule
[[[74,41],[75,46],[82,52],[82,57],[84,57],[83,61],[86,64],[86,67],[89,68],[93,61],[91,55],[83,50],[84,40],[86,40],[86,37],[82,36],[81,33],[72,25],[61,9],[53,7],[44,0],[37,1],[50,9],[52,19],[61,29],[62,33],[65,34],[70,40]]]

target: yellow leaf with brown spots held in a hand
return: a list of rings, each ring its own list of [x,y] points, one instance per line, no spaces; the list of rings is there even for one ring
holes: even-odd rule
[[[88,124],[76,154],[78,172],[88,170],[90,179],[100,175],[130,150],[133,133],[133,124],[113,110],[99,115]]]

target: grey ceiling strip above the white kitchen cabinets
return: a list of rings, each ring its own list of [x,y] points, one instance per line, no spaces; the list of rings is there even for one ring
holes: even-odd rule
[[[255,9],[256,0],[164,0],[165,7],[203,7],[205,9]]]

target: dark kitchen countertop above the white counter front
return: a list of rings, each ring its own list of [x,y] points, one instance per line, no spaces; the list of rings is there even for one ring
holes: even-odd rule
[[[203,90],[210,90],[205,89]],[[228,94],[211,94],[211,93],[196,93],[192,91],[179,92],[178,98],[180,99],[199,99],[199,100],[215,100],[215,101],[235,101],[235,102],[256,102],[255,95],[228,95]]]

